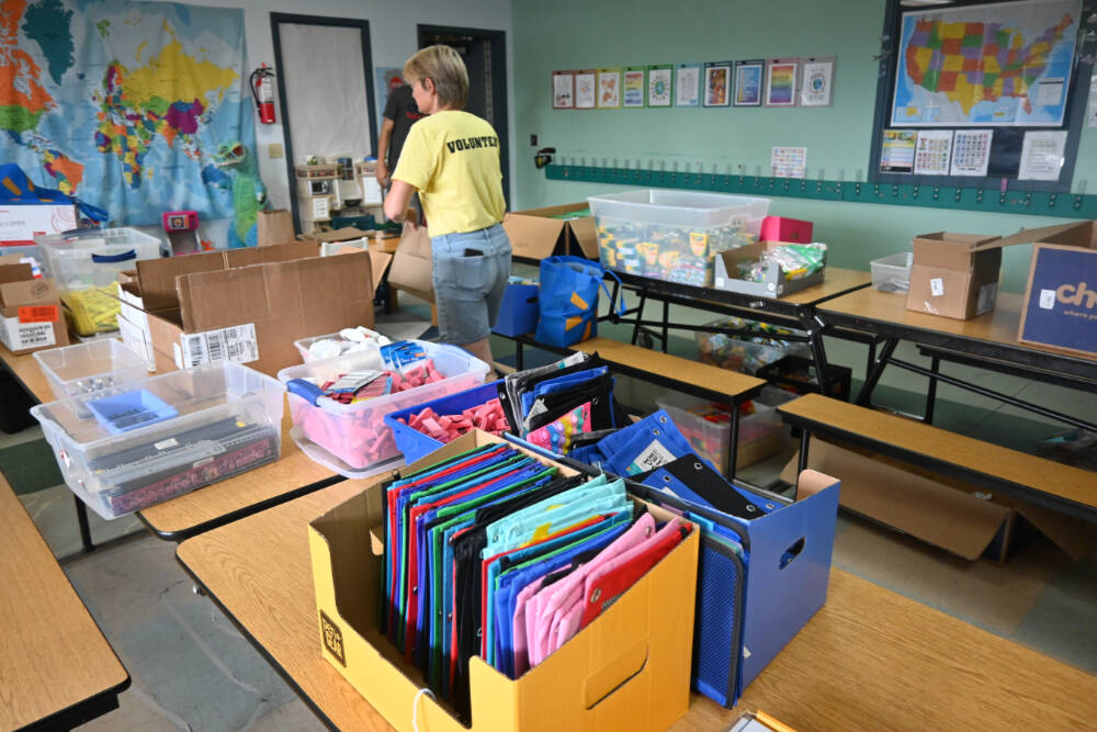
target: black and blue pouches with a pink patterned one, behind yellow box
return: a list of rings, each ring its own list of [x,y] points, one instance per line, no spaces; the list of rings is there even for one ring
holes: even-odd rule
[[[499,383],[499,402],[514,435],[558,455],[627,424],[597,353],[508,374]]]

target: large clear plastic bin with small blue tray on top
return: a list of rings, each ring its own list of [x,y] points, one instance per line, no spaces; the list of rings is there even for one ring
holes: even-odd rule
[[[279,459],[285,388],[231,361],[41,404],[65,483],[105,519]]]

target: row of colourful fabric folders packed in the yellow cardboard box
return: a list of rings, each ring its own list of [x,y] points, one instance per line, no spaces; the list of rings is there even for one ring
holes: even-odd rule
[[[518,678],[691,530],[657,525],[622,481],[565,476],[508,444],[386,487],[383,631],[468,720],[468,660]]]

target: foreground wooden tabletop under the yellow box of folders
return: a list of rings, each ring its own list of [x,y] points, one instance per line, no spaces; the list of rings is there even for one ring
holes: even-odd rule
[[[320,656],[306,526],[348,481],[182,542],[177,559],[335,729],[391,729]],[[826,607],[726,710],[694,696],[677,730],[762,709],[801,731],[1092,729],[1097,678],[832,570]]]

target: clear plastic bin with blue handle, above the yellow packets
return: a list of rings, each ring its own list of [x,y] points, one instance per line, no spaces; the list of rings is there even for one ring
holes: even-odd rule
[[[35,238],[60,290],[109,285],[138,259],[160,257],[161,240],[135,228],[86,228]]]

